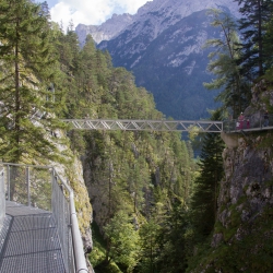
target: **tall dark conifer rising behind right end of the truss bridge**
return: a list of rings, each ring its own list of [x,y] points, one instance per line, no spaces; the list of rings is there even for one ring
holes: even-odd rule
[[[219,111],[215,111],[211,119],[219,120]],[[223,149],[218,134],[205,134],[199,163],[200,176],[194,181],[191,201],[193,225],[201,238],[210,235],[216,218],[218,185],[224,174]]]

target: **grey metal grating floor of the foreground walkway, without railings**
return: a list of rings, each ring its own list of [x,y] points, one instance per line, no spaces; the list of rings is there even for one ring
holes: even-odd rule
[[[0,272],[66,272],[52,214],[14,202],[5,205],[7,216],[0,232]]]

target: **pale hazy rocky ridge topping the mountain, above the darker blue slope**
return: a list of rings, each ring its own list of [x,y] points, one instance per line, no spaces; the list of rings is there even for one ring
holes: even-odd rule
[[[84,44],[87,34],[91,34],[94,40],[99,44],[102,40],[110,40],[122,32],[130,29],[133,23],[140,21],[145,22],[151,15],[154,15],[157,17],[158,23],[158,29],[154,35],[154,38],[156,38],[166,27],[176,24],[182,17],[197,11],[219,7],[228,7],[235,16],[239,14],[238,4],[234,2],[230,3],[230,0],[153,0],[142,5],[134,15],[129,13],[114,13],[112,16],[102,25],[80,24],[75,31],[81,45]],[[163,23],[164,21],[168,21],[168,23]]]

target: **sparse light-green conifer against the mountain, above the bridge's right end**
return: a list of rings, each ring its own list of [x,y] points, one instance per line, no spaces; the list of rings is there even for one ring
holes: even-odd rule
[[[235,21],[227,13],[212,9],[209,12],[213,16],[212,25],[219,27],[223,38],[210,39],[206,47],[212,46],[215,51],[209,55],[210,63],[207,70],[216,79],[204,83],[207,90],[221,90],[216,102],[221,102],[222,109],[232,111],[237,117],[249,104],[250,88],[245,78],[240,74],[240,67],[237,64],[240,58],[239,37]]]

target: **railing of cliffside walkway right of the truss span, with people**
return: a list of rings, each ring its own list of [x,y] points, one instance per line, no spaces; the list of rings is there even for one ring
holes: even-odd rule
[[[234,132],[240,130],[261,130],[269,127],[273,127],[273,115],[269,115],[268,124],[265,123],[264,115],[256,114],[252,116],[246,116],[244,118],[225,120],[223,122],[223,130],[225,132]]]

